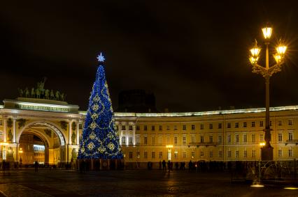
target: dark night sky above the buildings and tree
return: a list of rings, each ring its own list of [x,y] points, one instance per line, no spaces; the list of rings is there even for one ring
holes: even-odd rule
[[[297,105],[298,3],[203,2],[3,1],[0,100],[45,76],[45,88],[86,110],[104,52],[114,109],[130,89],[155,93],[159,111],[264,107],[264,79],[251,72],[248,49],[255,38],[263,44],[269,22],[271,46],[288,44],[282,72],[271,77],[271,106]]]

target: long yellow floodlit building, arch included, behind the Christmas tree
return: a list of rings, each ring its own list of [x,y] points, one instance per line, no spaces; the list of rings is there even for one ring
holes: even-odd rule
[[[76,158],[86,112],[66,102],[53,102],[4,100],[0,106],[1,159],[13,154],[19,160],[22,134],[35,134],[43,141],[45,150],[40,156],[45,163]],[[274,160],[298,158],[298,106],[271,107],[270,111]],[[256,161],[264,142],[265,109],[115,113],[115,123],[128,167],[146,167],[148,161],[157,167],[159,161],[169,159]]]

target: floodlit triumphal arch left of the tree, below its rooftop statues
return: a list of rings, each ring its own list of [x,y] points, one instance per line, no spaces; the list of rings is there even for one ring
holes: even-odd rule
[[[63,165],[76,159],[85,118],[78,111],[78,105],[55,97],[50,99],[50,95],[18,97],[3,103],[0,106],[1,160],[33,164],[43,154],[45,164]],[[42,153],[38,152],[40,149]]]

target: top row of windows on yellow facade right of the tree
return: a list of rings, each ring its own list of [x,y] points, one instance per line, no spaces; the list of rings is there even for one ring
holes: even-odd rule
[[[282,125],[283,125],[282,120],[278,120],[278,126],[282,126]],[[288,120],[288,125],[289,126],[292,126],[292,120]],[[260,127],[264,127],[264,122],[262,120],[259,122],[259,126]],[[272,126],[271,120],[270,120],[270,126]],[[119,126],[116,125],[116,127],[117,127],[117,130],[119,130]],[[231,127],[232,127],[231,123],[227,123],[227,128],[231,128]],[[239,123],[235,123],[234,127],[235,128],[239,128]],[[243,127],[244,128],[248,127],[248,125],[247,125],[246,122],[243,122]],[[254,121],[251,122],[250,127],[255,127],[255,122]],[[130,131],[133,130],[132,125],[129,125],[128,128],[129,128]],[[186,128],[187,128],[186,125],[183,125],[182,126],[182,129],[183,130],[186,130]],[[222,123],[218,123],[218,129],[221,129],[221,128],[222,128]],[[126,129],[127,129],[127,126],[126,125],[122,125],[122,130],[126,130]],[[163,129],[162,125],[159,125],[159,131],[162,131],[162,129]],[[174,130],[178,130],[177,125],[174,125],[173,126],[173,129]],[[194,130],[195,129],[195,125],[191,125],[191,129]],[[201,123],[200,129],[204,129],[204,123]],[[210,123],[209,124],[209,129],[213,129],[213,123]],[[140,125],[136,125],[136,130],[137,131],[140,130]],[[143,130],[144,131],[147,131],[148,130],[148,125],[143,125]],[[166,130],[170,130],[170,126],[169,125],[166,126]],[[155,131],[155,125],[151,125],[151,131]]]

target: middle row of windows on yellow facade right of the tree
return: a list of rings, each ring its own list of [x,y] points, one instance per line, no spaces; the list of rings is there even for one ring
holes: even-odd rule
[[[129,136],[128,139],[129,139],[129,144],[132,144],[133,143],[132,136]],[[199,142],[204,143],[205,142],[204,139],[205,139],[204,136],[200,136]],[[213,136],[208,136],[208,139],[209,139],[208,142],[213,143]],[[264,134],[260,134],[259,140],[264,141]],[[292,141],[292,140],[293,140],[293,134],[292,134],[292,132],[289,132],[288,133],[288,141]],[[159,136],[158,137],[158,144],[162,144],[162,141],[163,141],[162,136]],[[251,142],[255,142],[255,141],[256,141],[255,134],[251,134]],[[282,141],[283,141],[283,134],[278,133],[278,142],[282,142]],[[240,142],[239,141],[239,134],[235,134],[234,142],[235,143]],[[243,134],[242,142],[244,142],[244,143],[248,142],[248,135],[247,134]],[[122,136],[122,144],[125,144],[125,143],[127,143],[127,138],[125,136]],[[140,137],[137,136],[136,137],[136,144],[139,144],[139,143],[140,143]],[[171,143],[169,136],[166,137],[166,143],[167,144]],[[178,144],[178,136],[174,136],[173,143],[175,145]],[[196,143],[194,135],[191,136],[191,143]],[[222,136],[218,136],[218,143],[222,143]],[[231,134],[227,134],[227,143],[232,143],[232,135]],[[148,137],[147,136],[143,137],[143,144],[144,145],[148,144]],[[155,145],[155,136],[151,137],[151,144]],[[186,136],[182,137],[182,144],[186,145]]]

